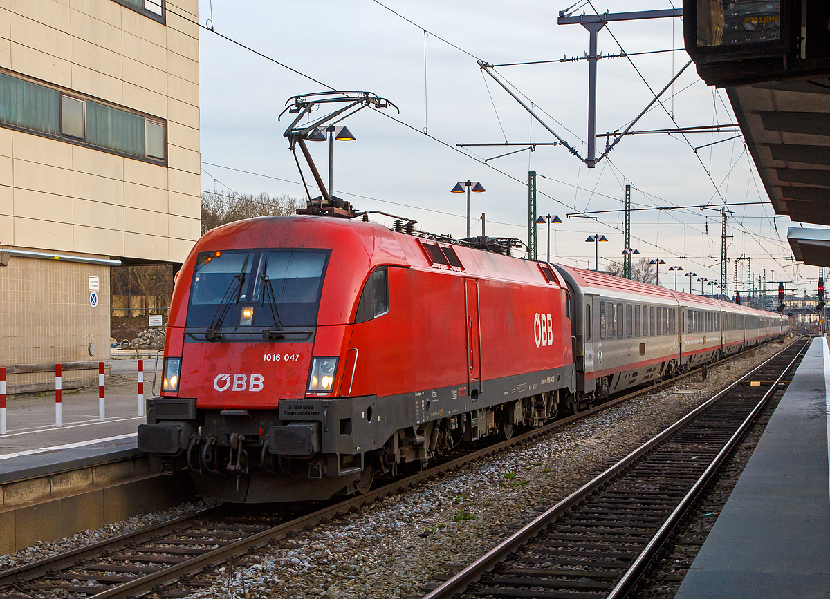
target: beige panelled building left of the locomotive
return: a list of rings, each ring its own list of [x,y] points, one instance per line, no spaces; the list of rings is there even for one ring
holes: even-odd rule
[[[110,265],[198,239],[197,23],[198,0],[0,0],[0,366],[110,358]]]

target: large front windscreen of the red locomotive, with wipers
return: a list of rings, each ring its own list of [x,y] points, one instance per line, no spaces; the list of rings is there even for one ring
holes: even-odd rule
[[[314,326],[329,253],[297,249],[200,253],[193,269],[187,326]]]

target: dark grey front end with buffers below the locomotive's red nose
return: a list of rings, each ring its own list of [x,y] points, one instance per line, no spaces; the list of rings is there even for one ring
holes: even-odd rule
[[[339,437],[326,434],[325,422],[351,426],[350,417],[336,413],[348,409],[351,416],[350,407],[296,403],[306,419],[286,422],[283,410],[197,410],[195,399],[154,397],[147,402],[148,424],[139,425],[138,449],[150,455],[151,470],[187,468],[198,494],[230,503],[328,499],[368,490],[372,469],[364,468],[364,453],[355,454],[345,439],[342,447],[325,447]],[[334,451],[320,457],[325,450]]]

